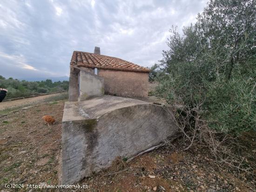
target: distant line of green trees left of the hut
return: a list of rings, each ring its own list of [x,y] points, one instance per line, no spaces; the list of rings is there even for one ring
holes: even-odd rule
[[[41,93],[54,93],[68,90],[68,81],[52,82],[51,79],[42,81],[26,81],[9,78],[6,79],[0,75],[0,87],[8,89],[6,99],[17,97],[26,97]]]

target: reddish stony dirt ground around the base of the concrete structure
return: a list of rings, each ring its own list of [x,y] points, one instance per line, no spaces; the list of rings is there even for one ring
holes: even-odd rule
[[[61,119],[64,101],[38,104],[0,116],[0,190],[6,184],[57,184],[61,152]],[[45,125],[41,117],[52,115],[56,123]],[[250,172],[239,172],[216,163],[206,148],[184,150],[182,139],[122,162],[79,182],[88,192],[256,192],[256,134],[246,133],[243,156]],[[120,172],[121,171],[121,172]],[[115,173],[119,172],[119,173]]]

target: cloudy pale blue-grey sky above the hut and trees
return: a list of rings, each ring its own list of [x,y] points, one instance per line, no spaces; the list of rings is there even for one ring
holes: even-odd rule
[[[207,0],[1,0],[0,75],[68,76],[74,50],[152,66]]]

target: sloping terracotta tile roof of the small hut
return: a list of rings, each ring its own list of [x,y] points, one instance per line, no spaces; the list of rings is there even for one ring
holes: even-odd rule
[[[138,66],[126,60],[121,60],[116,57],[99,55],[94,53],[74,51],[70,65],[85,66],[90,68],[110,69],[119,71],[135,71],[149,73],[149,69],[143,66]]]

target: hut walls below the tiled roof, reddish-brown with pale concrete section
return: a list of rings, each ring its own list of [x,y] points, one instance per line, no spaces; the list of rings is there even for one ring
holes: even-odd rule
[[[104,93],[129,98],[148,96],[148,73],[98,69],[98,75],[94,75],[94,69],[80,68],[70,71],[69,101]]]

